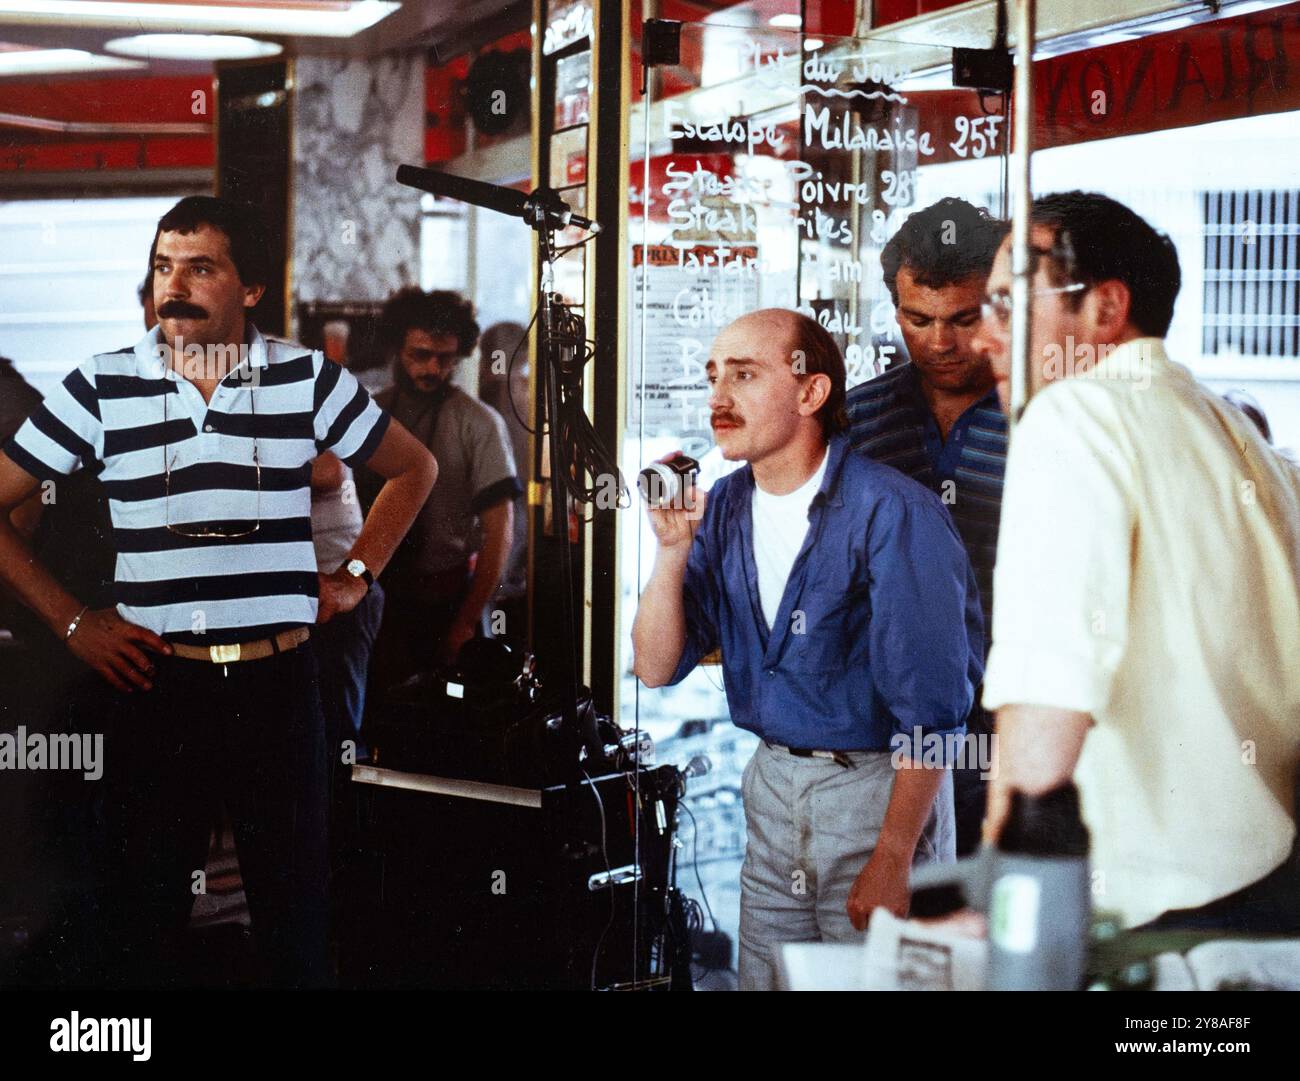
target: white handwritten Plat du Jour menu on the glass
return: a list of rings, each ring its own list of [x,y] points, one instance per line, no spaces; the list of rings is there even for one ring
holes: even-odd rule
[[[708,346],[757,308],[818,320],[849,386],[898,360],[880,249],[918,208],[927,165],[1006,149],[997,101],[936,81],[941,56],[907,42],[682,27],[675,78],[654,83],[671,92],[632,121],[629,438],[711,446]]]

